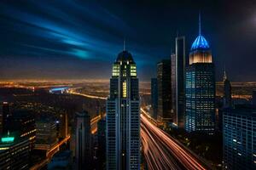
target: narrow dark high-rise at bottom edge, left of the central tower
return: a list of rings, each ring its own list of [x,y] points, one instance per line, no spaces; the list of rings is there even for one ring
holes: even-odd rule
[[[90,169],[91,161],[91,137],[90,115],[87,111],[77,113],[76,127],[76,165],[77,169]]]

